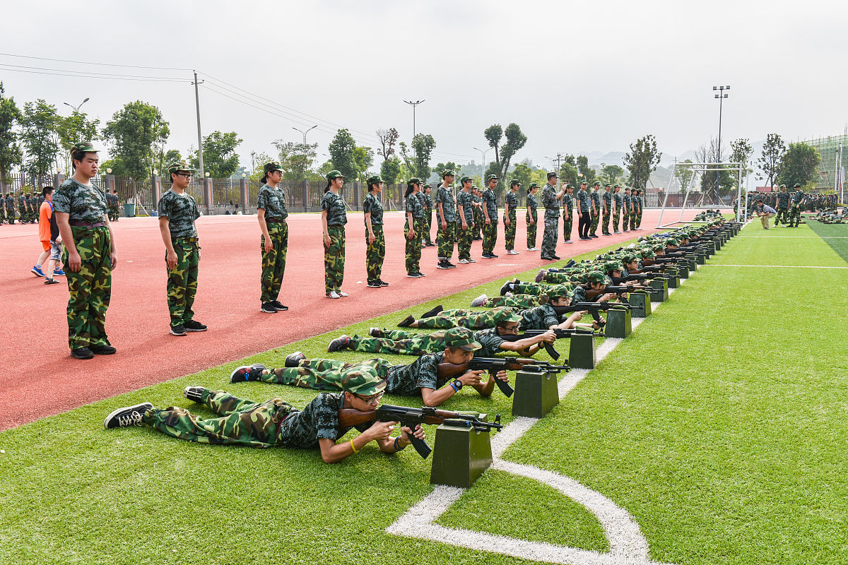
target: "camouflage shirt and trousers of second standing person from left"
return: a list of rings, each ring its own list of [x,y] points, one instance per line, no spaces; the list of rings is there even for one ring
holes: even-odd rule
[[[194,295],[198,291],[198,265],[200,246],[198,230],[194,220],[200,217],[198,205],[190,194],[177,194],[170,190],[159,198],[159,218],[168,219],[170,241],[176,252],[176,265],[168,269],[168,253],[165,252],[165,268],[168,270],[168,282],[165,285],[168,294],[170,327],[176,328],[194,317],[192,306]]]

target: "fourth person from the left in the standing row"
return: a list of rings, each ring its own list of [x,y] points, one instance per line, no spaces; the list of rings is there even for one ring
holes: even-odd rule
[[[326,188],[321,200],[321,224],[324,227],[324,288],[327,298],[348,296],[342,291],[344,280],[344,225],[348,212],[340,192],[344,175],[338,170],[326,174]]]

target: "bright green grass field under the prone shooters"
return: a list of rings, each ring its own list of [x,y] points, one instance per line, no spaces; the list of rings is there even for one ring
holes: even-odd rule
[[[657,560],[848,560],[848,362],[845,338],[834,331],[848,306],[845,271],[719,264],[845,261],[804,226],[757,227],[743,235],[810,237],[797,245],[731,241],[505,454],[575,478],[627,509]],[[207,446],[147,428],[103,429],[107,413],[134,402],[193,409],[181,396],[186,385],[303,406],[313,391],[232,385],[230,371],[243,363],[279,366],[295,349],[326,357],[327,341],[340,333],[393,327],[438,302],[467,307],[481,291],[496,296],[502,282],[0,433],[0,563],[521,562],[384,533],[432,490],[430,461],[411,449],[385,456],[372,445],[326,465],[317,450]],[[565,354],[567,343],[559,349]],[[511,419],[499,391],[490,399],[464,391],[445,408]],[[434,435],[427,430],[431,443]],[[585,508],[499,471],[484,474],[439,523],[608,546]]]

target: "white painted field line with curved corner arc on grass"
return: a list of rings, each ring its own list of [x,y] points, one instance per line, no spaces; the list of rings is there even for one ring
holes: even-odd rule
[[[699,265],[700,266],[700,265]],[[685,280],[681,280],[681,283]],[[671,295],[677,289],[669,289]],[[651,312],[661,306],[661,302],[651,302]],[[631,328],[636,330],[644,319],[636,318]],[[595,352],[598,363],[603,361],[623,340],[607,338]],[[589,374],[589,369],[572,369],[563,376],[557,389],[560,399],[564,398],[581,380]],[[479,551],[490,551],[532,559],[540,562],[570,563],[571,565],[662,565],[652,562],[649,557],[648,541],[644,539],[639,524],[630,514],[600,492],[581,485],[574,479],[564,477],[532,465],[521,465],[501,459],[504,452],[518,438],[524,435],[538,421],[537,418],[517,417],[492,438],[491,468],[506,471],[522,477],[538,480],[550,485],[563,495],[583,504],[598,518],[610,543],[610,551],[600,553],[577,547],[558,546],[538,541],[517,540],[504,535],[485,534],[470,529],[446,528],[435,523],[447,512],[448,508],[459,500],[463,489],[452,486],[436,485],[432,492],[411,507],[403,516],[395,520],[386,531],[389,534],[438,541],[452,546],[466,547]]]

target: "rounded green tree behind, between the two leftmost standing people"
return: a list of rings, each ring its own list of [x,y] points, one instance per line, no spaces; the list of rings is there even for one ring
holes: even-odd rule
[[[110,142],[114,157],[124,163],[126,174],[144,180],[155,168],[156,154],[165,153],[170,129],[159,108],[137,100],[112,114],[103,136]]]

